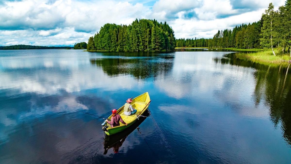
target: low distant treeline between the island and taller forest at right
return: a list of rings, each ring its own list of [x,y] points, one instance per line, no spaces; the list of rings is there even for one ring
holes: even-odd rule
[[[208,47],[209,39],[176,39],[176,47]]]

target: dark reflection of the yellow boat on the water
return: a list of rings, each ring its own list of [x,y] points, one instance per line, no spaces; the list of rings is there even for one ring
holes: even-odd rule
[[[150,113],[147,109],[142,116],[150,116]],[[113,148],[114,153],[118,153],[120,146],[122,146],[123,142],[125,141],[126,137],[133,132],[135,129],[139,131],[139,125],[146,119],[146,117],[139,117],[139,119],[133,123],[130,127],[126,128],[122,132],[119,132],[114,135],[106,135],[104,140],[104,154],[107,154],[107,151],[110,148]]]

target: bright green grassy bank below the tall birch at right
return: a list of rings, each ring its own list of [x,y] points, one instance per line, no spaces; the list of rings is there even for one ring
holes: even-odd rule
[[[239,59],[250,60],[252,62],[257,62],[261,64],[275,63],[282,64],[288,63],[291,60],[289,54],[279,54],[277,50],[275,50],[277,56],[274,56],[272,50],[256,52],[256,53],[236,53],[235,56]]]

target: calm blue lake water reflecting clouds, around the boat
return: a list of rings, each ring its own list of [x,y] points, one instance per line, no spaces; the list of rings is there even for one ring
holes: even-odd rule
[[[203,49],[1,50],[0,163],[290,163],[290,69]],[[145,92],[148,118],[105,141],[103,119],[69,110],[108,117]]]

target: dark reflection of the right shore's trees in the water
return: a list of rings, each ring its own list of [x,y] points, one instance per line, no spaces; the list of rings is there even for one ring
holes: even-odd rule
[[[255,106],[263,103],[269,107],[270,119],[275,127],[281,126],[283,137],[291,145],[291,71],[290,64],[258,64],[236,59],[233,54],[214,58],[217,63],[231,64],[255,69],[256,80],[253,93]]]

